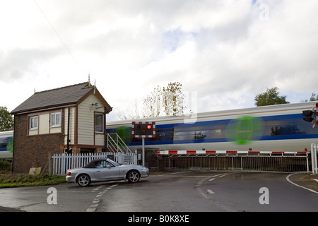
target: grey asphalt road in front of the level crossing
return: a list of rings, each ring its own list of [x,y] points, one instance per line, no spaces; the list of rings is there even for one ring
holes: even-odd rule
[[[318,194],[291,184],[286,177],[182,171],[151,175],[137,184],[119,181],[85,188],[65,183],[0,189],[0,206],[28,212],[317,212]]]

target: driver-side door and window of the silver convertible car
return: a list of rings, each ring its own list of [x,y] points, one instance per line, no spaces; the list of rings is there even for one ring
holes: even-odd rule
[[[119,167],[111,165],[110,162],[101,161],[94,169],[96,179],[111,180],[119,177]]]

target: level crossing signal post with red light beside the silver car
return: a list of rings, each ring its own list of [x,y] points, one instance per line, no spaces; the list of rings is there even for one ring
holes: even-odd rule
[[[145,138],[155,137],[155,121],[133,121],[131,124],[131,136],[142,138],[143,166],[145,166]]]

